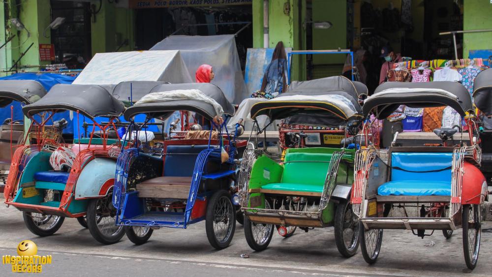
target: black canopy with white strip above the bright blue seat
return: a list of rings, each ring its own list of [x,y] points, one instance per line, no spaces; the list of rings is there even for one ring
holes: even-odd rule
[[[400,105],[412,108],[450,106],[461,116],[473,113],[470,93],[458,82],[386,82],[376,88],[362,106],[363,115],[371,111],[385,119]]]

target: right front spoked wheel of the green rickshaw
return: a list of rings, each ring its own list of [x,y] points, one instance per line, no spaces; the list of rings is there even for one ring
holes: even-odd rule
[[[350,201],[340,202],[335,212],[335,242],[338,252],[349,258],[355,255],[359,247],[359,228],[357,217],[352,211]]]

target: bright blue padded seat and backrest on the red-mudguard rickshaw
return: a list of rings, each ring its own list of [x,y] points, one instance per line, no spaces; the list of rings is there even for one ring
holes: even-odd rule
[[[392,153],[391,182],[379,195],[451,196],[453,153]]]

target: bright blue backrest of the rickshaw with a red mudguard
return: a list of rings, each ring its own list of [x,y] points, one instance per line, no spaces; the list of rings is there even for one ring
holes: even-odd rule
[[[453,153],[391,153],[391,181],[451,182]]]

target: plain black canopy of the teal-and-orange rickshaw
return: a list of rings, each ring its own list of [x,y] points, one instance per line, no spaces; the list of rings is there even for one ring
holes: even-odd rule
[[[58,84],[41,100],[22,108],[26,116],[50,110],[79,111],[93,120],[99,116],[118,117],[124,106],[101,86]]]

